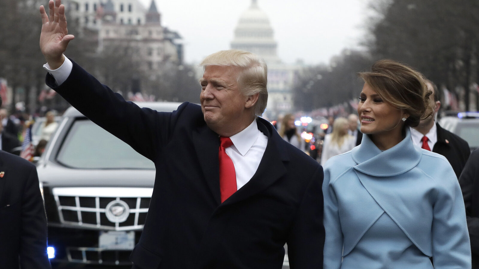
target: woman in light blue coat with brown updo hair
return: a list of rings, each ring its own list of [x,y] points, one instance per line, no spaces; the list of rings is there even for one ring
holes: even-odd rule
[[[431,111],[422,75],[390,60],[359,75],[362,143],[324,165],[324,268],[471,268],[454,170],[411,141]]]

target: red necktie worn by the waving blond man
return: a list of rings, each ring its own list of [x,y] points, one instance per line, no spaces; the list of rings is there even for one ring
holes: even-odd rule
[[[226,154],[226,148],[233,145],[229,137],[219,137],[219,190],[221,191],[221,202],[225,202],[237,190],[236,172],[233,161]]]

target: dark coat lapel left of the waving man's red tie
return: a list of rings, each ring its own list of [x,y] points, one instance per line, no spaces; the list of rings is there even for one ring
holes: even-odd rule
[[[218,134],[213,132],[205,124],[198,127],[198,129],[194,131],[192,135],[195,152],[201,169],[203,170],[208,189],[210,190],[217,204],[220,204],[221,195],[219,191]]]

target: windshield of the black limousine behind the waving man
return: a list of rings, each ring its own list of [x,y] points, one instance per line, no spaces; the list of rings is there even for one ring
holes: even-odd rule
[[[57,161],[71,168],[155,168],[151,160],[87,119],[73,123],[58,151]]]

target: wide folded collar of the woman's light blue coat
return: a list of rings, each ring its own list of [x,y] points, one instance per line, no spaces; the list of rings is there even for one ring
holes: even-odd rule
[[[361,145],[352,150],[353,168],[367,175],[387,177],[402,174],[414,168],[421,160],[421,151],[412,144],[411,132],[406,128],[406,137],[388,150],[381,151],[369,135],[363,135]]]

